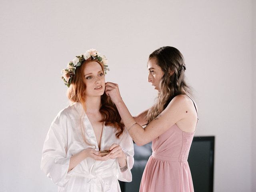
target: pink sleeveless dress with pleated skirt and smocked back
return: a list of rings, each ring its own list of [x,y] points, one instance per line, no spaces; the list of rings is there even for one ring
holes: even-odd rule
[[[187,161],[193,137],[174,124],[152,141],[140,192],[194,192]]]

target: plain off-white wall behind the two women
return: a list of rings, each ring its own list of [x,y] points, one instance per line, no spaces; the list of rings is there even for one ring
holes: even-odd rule
[[[53,118],[68,105],[60,71],[96,48],[130,112],[154,103],[147,58],[178,48],[194,88],[196,136],[216,136],[214,191],[256,191],[254,0],[0,1],[0,192],[54,192],[40,170]]]

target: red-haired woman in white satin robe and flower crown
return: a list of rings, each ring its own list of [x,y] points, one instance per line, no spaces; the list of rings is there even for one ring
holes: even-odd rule
[[[118,180],[132,181],[133,142],[104,92],[108,70],[94,49],[62,70],[72,104],[52,122],[41,161],[58,192],[120,192]]]

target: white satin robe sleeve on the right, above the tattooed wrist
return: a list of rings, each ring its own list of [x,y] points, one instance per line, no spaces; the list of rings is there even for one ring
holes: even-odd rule
[[[121,142],[119,144],[126,154],[127,157],[127,167],[128,169],[124,172],[120,171],[120,166],[118,163],[118,160],[116,159],[117,167],[118,167],[118,180],[124,181],[124,182],[131,182],[132,181],[132,172],[131,169],[134,164],[134,147],[133,147],[133,141],[130,137],[129,133],[126,129],[124,129],[124,132],[122,134]]]

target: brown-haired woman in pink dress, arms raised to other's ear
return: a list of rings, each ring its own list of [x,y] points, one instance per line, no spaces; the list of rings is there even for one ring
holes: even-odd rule
[[[188,96],[186,66],[179,50],[162,47],[148,59],[148,82],[158,90],[150,109],[132,117],[118,85],[106,83],[130,136],[138,146],[152,141],[152,156],[144,170],[140,192],[193,192],[188,153],[198,122],[197,107]],[[146,125],[145,128],[142,128]]]

